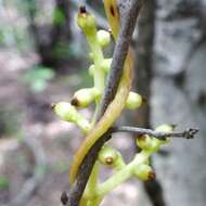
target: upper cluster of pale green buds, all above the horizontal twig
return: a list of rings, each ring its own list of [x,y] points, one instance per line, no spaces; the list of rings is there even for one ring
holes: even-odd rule
[[[76,124],[83,133],[87,133],[92,127],[92,120],[86,119],[77,108],[83,108],[91,103],[100,106],[101,96],[105,88],[106,75],[110,70],[112,59],[105,59],[103,49],[111,42],[111,33],[106,30],[98,30],[95,17],[89,13],[85,7],[79,9],[77,15],[77,24],[86,35],[91,49],[90,59],[92,61],[89,67],[89,74],[93,77],[92,88],[82,88],[75,92],[70,103],[60,102],[55,104],[55,114],[65,121]],[[126,108],[134,110],[142,104],[142,96],[136,92],[130,92],[126,102]]]

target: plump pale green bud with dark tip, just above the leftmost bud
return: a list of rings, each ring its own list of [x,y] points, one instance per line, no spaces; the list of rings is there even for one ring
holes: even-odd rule
[[[87,107],[90,103],[100,96],[100,92],[96,88],[83,88],[75,92],[72,105],[78,107]]]

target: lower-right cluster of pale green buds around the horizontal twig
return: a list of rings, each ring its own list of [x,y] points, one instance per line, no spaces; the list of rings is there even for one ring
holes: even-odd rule
[[[155,129],[159,132],[171,132],[173,130],[172,125],[162,125]],[[121,154],[111,146],[103,146],[99,153],[99,162],[106,167],[116,170],[114,173],[114,182],[129,179],[132,176],[138,177],[140,180],[151,180],[156,177],[152,167],[150,166],[150,156],[157,152],[160,146],[167,143],[169,139],[158,140],[156,138],[143,134],[137,139],[137,144],[141,149],[140,153],[137,153],[134,158],[126,164]],[[120,176],[120,177],[119,177]],[[117,180],[115,180],[117,177]]]

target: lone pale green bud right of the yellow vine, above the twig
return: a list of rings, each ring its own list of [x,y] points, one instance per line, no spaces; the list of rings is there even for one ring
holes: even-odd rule
[[[130,91],[127,98],[126,108],[130,110],[138,108],[141,104],[142,104],[142,96],[139,93]]]

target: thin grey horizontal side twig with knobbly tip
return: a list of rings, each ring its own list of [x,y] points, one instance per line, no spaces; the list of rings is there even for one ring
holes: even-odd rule
[[[189,128],[182,132],[159,132],[152,129],[144,129],[139,127],[114,127],[111,129],[112,132],[132,132],[137,133],[139,137],[142,134],[149,134],[156,139],[164,140],[165,138],[184,138],[184,139],[193,139],[194,136],[198,132],[198,129]]]

